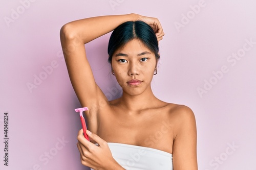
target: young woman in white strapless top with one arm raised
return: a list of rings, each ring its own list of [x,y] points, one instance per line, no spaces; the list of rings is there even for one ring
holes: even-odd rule
[[[84,44],[113,30],[109,61],[123,93],[108,101],[94,80]],[[157,18],[137,14],[81,19],[61,28],[70,80],[81,106],[89,108],[90,131],[84,133],[90,141],[82,130],[77,137],[83,165],[93,169],[197,169],[194,113],[186,106],[157,99],[151,89],[163,35]]]

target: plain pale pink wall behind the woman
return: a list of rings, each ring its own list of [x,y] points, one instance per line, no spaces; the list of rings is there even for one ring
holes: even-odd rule
[[[193,109],[199,169],[255,169],[255,1],[0,4],[0,141],[4,112],[9,112],[9,166],[3,165],[0,142],[1,169],[87,169],[76,148],[81,125],[74,108],[80,105],[63,61],[59,30],[72,20],[126,13],[157,17],[162,23],[165,36],[153,90],[163,101]],[[107,62],[109,36],[89,43],[87,53],[97,83],[111,100],[120,92]],[[232,57],[236,53],[237,59]],[[35,77],[44,80],[34,82]]]

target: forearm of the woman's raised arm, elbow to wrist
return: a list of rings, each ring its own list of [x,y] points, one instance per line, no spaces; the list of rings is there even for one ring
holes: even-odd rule
[[[78,38],[86,44],[106,33],[113,31],[121,23],[138,20],[140,15],[109,15],[75,20],[61,28],[60,34],[69,38]]]

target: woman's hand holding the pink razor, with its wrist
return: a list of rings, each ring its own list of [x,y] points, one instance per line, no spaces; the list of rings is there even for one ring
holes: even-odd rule
[[[90,139],[99,145],[97,146],[84,138],[82,129],[78,132],[77,148],[80,152],[80,159],[83,165],[93,169],[123,169],[113,158],[106,141],[88,130],[86,133]]]

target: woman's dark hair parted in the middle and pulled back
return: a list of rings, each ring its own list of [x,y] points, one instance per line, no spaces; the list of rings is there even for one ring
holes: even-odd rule
[[[110,36],[108,46],[109,63],[111,63],[115,51],[133,39],[139,39],[149,50],[155,53],[156,59],[160,58],[154,30],[143,21],[127,21],[118,26]]]

